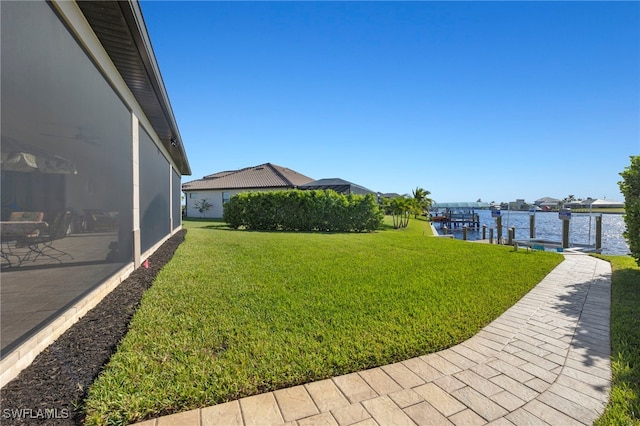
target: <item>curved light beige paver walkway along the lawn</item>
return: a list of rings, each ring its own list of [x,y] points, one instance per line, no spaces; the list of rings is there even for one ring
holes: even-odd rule
[[[609,399],[609,263],[565,260],[476,336],[397,364],[139,425],[580,425]]]

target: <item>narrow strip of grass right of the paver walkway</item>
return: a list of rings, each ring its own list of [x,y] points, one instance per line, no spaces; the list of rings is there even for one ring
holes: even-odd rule
[[[611,369],[609,405],[595,423],[640,425],[640,268],[631,256],[601,256],[611,262]]]

